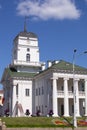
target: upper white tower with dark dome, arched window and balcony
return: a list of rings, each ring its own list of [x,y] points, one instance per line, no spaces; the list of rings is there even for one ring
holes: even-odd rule
[[[39,61],[38,37],[35,33],[20,32],[13,41],[12,64],[18,72],[38,73],[44,63]]]

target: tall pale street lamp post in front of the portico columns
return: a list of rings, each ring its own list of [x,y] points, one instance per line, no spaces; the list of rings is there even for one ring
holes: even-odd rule
[[[76,118],[76,113],[77,113],[77,100],[76,100],[76,89],[77,89],[77,87],[76,87],[76,85],[75,85],[75,58],[76,58],[76,52],[77,52],[77,50],[76,49],[74,49],[74,54],[73,54],[73,90],[74,90],[74,93],[73,93],[73,98],[74,98],[74,118],[73,118],[73,120],[74,120],[74,127],[77,127],[77,118]],[[82,54],[86,54],[87,53],[87,51],[84,51]]]

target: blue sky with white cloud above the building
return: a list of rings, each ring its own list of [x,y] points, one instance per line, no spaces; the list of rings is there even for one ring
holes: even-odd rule
[[[87,0],[0,0],[0,80],[25,17],[27,31],[38,36],[40,61],[72,63],[76,49],[75,64],[87,68]]]

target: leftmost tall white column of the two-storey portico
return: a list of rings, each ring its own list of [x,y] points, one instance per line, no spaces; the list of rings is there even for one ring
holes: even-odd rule
[[[58,107],[57,107],[57,80],[53,79],[53,116],[58,116]]]

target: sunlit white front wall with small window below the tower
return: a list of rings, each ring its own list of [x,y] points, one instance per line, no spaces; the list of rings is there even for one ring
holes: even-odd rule
[[[30,114],[32,114],[32,81],[28,80],[14,80],[13,85],[13,109],[16,101],[22,105],[24,113],[26,109],[29,109]],[[18,84],[18,98],[16,96],[16,85]],[[30,95],[25,95],[25,89],[30,90]]]

